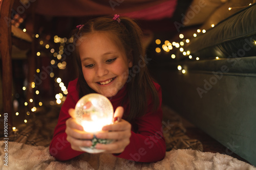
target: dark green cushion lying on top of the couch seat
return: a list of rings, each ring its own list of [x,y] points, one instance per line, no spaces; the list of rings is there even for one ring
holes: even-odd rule
[[[256,56],[256,3],[199,34],[184,47],[193,59]]]

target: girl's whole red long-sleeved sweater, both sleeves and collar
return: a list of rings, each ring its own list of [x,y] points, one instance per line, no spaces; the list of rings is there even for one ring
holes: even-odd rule
[[[53,139],[50,144],[50,154],[60,161],[69,160],[83,153],[72,150],[71,144],[67,141],[67,134],[65,133],[66,120],[70,118],[68,110],[75,108],[79,100],[76,84],[77,79],[69,83],[69,93],[61,107],[58,124],[55,127]],[[154,82],[154,85],[160,99],[159,108],[154,112],[148,109],[144,116],[136,118],[131,123],[132,135],[130,144],[126,146],[122,153],[113,154],[114,156],[138,162],[156,162],[164,158],[166,146],[162,132],[162,92],[159,84]],[[126,94],[125,87],[110,99],[114,111],[118,106],[121,106],[122,98]],[[129,110],[127,102],[122,106],[124,111]],[[152,99],[148,100],[148,108],[151,108],[151,106]]]

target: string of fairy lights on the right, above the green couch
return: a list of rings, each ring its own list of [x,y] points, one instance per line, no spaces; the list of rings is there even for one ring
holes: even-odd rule
[[[250,6],[251,4],[249,4]],[[228,11],[231,11],[233,8],[236,8],[236,7],[229,7],[228,8]],[[215,27],[215,23],[211,23],[210,25],[212,28]],[[197,37],[198,34],[204,34],[206,33],[206,30],[203,29],[197,29],[197,33],[194,33],[192,38],[193,37]],[[196,59],[196,60],[200,60],[199,57],[195,57],[193,58],[193,56],[190,55],[190,51],[185,51],[184,50],[184,45],[185,43],[189,43],[190,40],[189,39],[185,39],[184,38],[184,35],[183,34],[180,34],[179,35],[179,38],[181,39],[179,42],[176,42],[176,41],[173,41],[172,43],[170,43],[168,40],[165,40],[164,43],[162,44],[162,49],[165,51],[165,52],[170,52],[170,51],[173,51],[175,50],[175,48],[179,49],[180,53],[182,53],[183,56],[186,56],[188,57],[189,59]],[[156,39],[156,44],[157,45],[161,45],[161,40],[160,39]],[[254,44],[256,44],[256,41],[254,41]],[[161,52],[161,48],[160,47],[156,47],[156,53],[160,53]],[[172,59],[175,59],[176,58],[176,55],[175,54],[171,54],[170,57]],[[216,56],[216,59],[220,59],[220,57]],[[181,65],[178,65],[177,66],[177,69],[179,71],[182,72],[182,74],[185,74],[186,73],[186,69],[185,68],[182,68]]]

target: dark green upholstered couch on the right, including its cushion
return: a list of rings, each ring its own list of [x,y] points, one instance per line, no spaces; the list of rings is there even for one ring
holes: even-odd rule
[[[254,166],[255,21],[256,5],[252,4],[191,39],[184,49],[193,58],[177,54],[176,62],[159,67],[159,74],[168,77],[157,78],[170,107]]]

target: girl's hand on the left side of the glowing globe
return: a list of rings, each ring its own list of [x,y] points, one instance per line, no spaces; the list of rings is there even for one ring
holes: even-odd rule
[[[69,109],[70,118],[66,121],[67,140],[71,144],[71,148],[75,151],[82,151],[79,147],[91,147],[93,138],[92,133],[83,131],[83,127],[77,124],[75,119],[75,110]],[[89,140],[87,140],[89,139]]]

